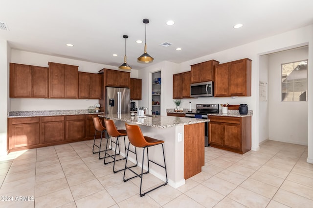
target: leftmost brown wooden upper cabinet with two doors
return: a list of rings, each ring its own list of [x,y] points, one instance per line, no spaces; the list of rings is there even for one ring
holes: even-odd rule
[[[10,97],[48,97],[48,68],[10,63]]]

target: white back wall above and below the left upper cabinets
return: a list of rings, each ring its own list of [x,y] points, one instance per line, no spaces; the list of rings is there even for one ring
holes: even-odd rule
[[[48,62],[56,62],[78,66],[78,71],[98,73],[103,68],[116,69],[117,67],[75,60],[64,57],[55,57],[38,53],[12,50],[11,62],[34,66],[48,67]],[[131,77],[136,78],[138,70],[131,71]],[[10,111],[36,111],[36,110],[80,110],[88,109],[98,103],[96,99],[44,99],[44,98],[10,98]]]

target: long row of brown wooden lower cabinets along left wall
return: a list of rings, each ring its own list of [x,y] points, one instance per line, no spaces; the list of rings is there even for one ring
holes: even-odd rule
[[[8,118],[7,151],[20,151],[94,138],[98,114]],[[97,132],[96,138],[101,133]]]

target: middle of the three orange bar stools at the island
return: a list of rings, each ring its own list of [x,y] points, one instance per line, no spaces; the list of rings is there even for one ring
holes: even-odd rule
[[[124,169],[115,170],[115,161],[125,160],[126,159],[126,157],[123,157],[123,158],[120,158],[120,159],[116,159],[116,155],[120,154],[120,148],[119,148],[119,141],[118,141],[118,139],[119,139],[119,137],[122,137],[122,136],[124,137],[124,147],[125,147],[125,154],[126,154],[125,136],[127,136],[127,132],[126,132],[126,130],[117,130],[113,120],[104,119],[104,124],[106,126],[107,132],[108,132],[108,134],[110,136],[110,139],[111,139],[111,147],[112,147],[112,143],[115,144],[115,152],[114,152],[114,154],[109,154],[107,151],[105,151],[104,164],[106,165],[106,164],[109,164],[109,163],[113,162],[113,172],[116,173],[118,171],[124,170]],[[115,137],[116,141],[112,141],[112,137]],[[108,140],[107,140],[107,145],[108,145]],[[118,147],[118,153],[116,153],[117,147]],[[138,164],[136,149],[135,149],[135,151],[131,151],[131,152],[133,152],[136,155],[136,164],[134,166],[132,166],[132,167],[135,167]],[[106,158],[108,158],[108,157],[111,157],[113,159],[113,161],[106,162]]]

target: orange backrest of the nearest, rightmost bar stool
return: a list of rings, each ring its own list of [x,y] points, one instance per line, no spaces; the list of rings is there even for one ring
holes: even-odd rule
[[[126,132],[129,142],[135,147],[146,147],[149,146],[146,139],[144,138],[141,129],[137,125],[129,125],[125,123]]]

